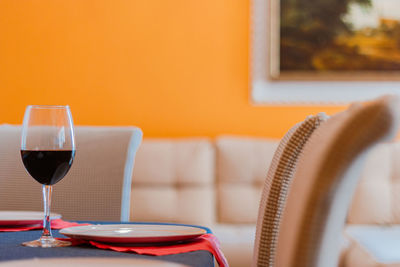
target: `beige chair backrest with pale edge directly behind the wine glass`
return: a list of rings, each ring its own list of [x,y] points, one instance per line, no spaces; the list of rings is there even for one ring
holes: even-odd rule
[[[0,126],[0,210],[43,210],[41,185],[25,171],[20,126]],[[75,127],[76,156],[54,185],[52,212],[65,219],[128,221],[131,179],[142,132],[135,127]]]

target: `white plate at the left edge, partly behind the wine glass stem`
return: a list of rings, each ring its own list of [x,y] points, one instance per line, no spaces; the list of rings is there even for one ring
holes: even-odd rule
[[[0,225],[32,225],[43,221],[43,211],[0,211]],[[51,214],[51,219],[60,219],[60,214]]]

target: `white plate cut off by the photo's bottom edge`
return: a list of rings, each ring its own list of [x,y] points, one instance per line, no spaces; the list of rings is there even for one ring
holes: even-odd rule
[[[110,267],[110,266],[142,266],[142,267],[185,267],[173,262],[149,259],[127,258],[35,258],[1,262],[0,266],[9,267]]]

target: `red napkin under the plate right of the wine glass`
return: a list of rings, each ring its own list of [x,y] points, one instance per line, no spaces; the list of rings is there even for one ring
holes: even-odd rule
[[[84,240],[77,240],[71,238],[58,238],[61,240],[72,241],[73,245],[85,244]],[[178,254],[184,252],[191,252],[196,250],[207,250],[211,252],[218,262],[220,267],[229,267],[228,261],[226,260],[224,254],[219,247],[219,241],[213,234],[204,234],[200,237],[193,239],[192,241],[177,244],[168,245],[158,245],[158,246],[141,246],[141,247],[126,247],[118,246],[116,244],[105,244],[95,241],[88,241],[91,245],[101,248],[110,249],[119,252],[135,252],[137,254],[147,254],[147,255],[170,255]]]

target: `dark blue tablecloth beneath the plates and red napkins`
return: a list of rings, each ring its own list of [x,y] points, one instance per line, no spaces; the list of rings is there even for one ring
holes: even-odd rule
[[[98,222],[91,222],[97,224]],[[206,227],[208,233],[210,230]],[[205,250],[193,251],[165,256],[139,255],[135,253],[116,252],[94,248],[90,245],[61,247],[61,248],[30,248],[21,245],[24,241],[40,237],[41,231],[2,232],[0,233],[0,261],[31,259],[31,258],[62,258],[62,257],[136,257],[159,259],[178,262],[188,266],[214,266],[213,255]],[[65,237],[53,230],[54,237]]]

